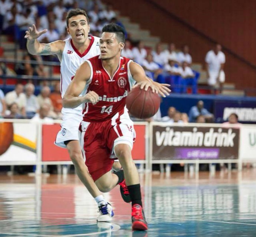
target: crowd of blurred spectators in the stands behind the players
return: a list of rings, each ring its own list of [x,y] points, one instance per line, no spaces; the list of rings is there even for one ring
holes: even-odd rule
[[[111,4],[104,5],[100,0],[0,0],[0,32],[11,34],[16,42],[19,42],[20,49],[24,49],[24,63],[16,64],[15,73],[17,75],[49,77],[47,67],[43,61],[58,60],[54,56],[33,56],[26,51],[25,31],[35,24],[37,30],[48,29],[39,37],[41,43],[49,43],[55,40],[65,40],[69,36],[66,31],[66,14],[70,8],[85,9],[90,24],[90,34],[100,36],[102,27],[105,24],[114,22],[124,27],[118,20]],[[126,33],[125,48],[122,56],[128,57],[139,63],[145,70],[148,77],[160,83],[172,85],[172,92],[187,93],[187,87],[191,86],[192,93],[197,93],[197,80],[199,73],[191,69],[192,57],[189,53],[189,46],[184,45],[178,51],[174,43],[170,43],[168,48],[163,50],[162,44],[158,43],[155,49],[144,46],[142,41],[134,41]],[[223,68],[220,73],[220,65],[214,60],[220,58],[218,63],[224,64],[225,57],[221,52],[221,47],[216,45],[214,50],[207,53],[207,74],[211,78],[211,85],[216,84],[216,78],[223,80]],[[29,60],[37,61],[31,64]],[[5,74],[7,69],[0,65],[0,74]],[[215,79],[214,79],[215,78]],[[215,80],[215,82],[214,82]],[[23,84],[25,84],[23,86]],[[49,87],[48,81],[41,81],[40,94],[35,96],[35,85],[29,80],[28,83],[17,84],[13,91],[6,95],[0,90],[0,113],[2,117],[8,118],[61,118],[61,96],[59,83],[55,82]],[[24,88],[23,88],[24,87]],[[51,91],[52,89],[52,91]],[[189,116],[170,107],[168,116],[161,117],[161,112],[155,115],[152,120],[187,123],[197,121],[200,115],[207,119],[205,114],[198,114],[196,117]],[[202,110],[203,111],[203,110]],[[170,113],[169,113],[170,112]],[[192,112],[191,112],[192,113]],[[203,119],[202,119],[203,121]]]

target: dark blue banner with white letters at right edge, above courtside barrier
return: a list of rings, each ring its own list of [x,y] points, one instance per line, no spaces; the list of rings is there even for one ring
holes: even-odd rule
[[[241,122],[256,123],[255,101],[214,101],[214,116],[218,123],[226,121],[232,113],[236,113]]]

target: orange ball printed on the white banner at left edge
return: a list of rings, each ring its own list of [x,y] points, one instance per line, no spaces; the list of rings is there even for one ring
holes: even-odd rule
[[[0,123],[0,156],[5,153],[13,142],[13,124]]]

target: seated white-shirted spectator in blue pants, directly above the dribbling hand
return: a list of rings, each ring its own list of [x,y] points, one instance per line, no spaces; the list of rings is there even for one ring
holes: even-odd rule
[[[146,75],[152,80],[165,83],[165,79],[161,74],[163,70],[153,61],[152,54],[148,54],[146,59],[142,60],[141,66],[144,68]]]

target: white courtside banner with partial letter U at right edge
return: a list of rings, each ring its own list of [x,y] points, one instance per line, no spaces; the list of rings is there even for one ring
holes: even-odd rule
[[[240,128],[240,158],[256,160],[256,125]]]

